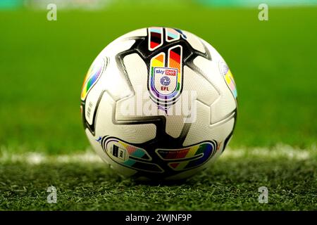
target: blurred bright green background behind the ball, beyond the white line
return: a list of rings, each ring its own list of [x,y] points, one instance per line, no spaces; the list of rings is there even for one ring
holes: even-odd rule
[[[316,143],[316,1],[268,1],[268,21],[258,19],[258,1],[92,1],[89,9],[56,1],[56,21],[46,19],[48,2],[0,4],[2,150],[89,148],[80,118],[85,73],[113,39],[149,26],[197,34],[225,58],[239,101],[232,148]]]

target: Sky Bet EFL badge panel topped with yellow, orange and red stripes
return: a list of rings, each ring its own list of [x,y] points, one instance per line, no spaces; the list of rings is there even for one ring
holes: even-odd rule
[[[177,45],[151,58],[149,91],[152,101],[167,111],[182,91],[182,46]],[[167,65],[166,65],[167,61]]]

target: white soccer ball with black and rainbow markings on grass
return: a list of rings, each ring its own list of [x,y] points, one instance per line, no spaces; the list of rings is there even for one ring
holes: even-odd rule
[[[225,150],[237,90],[227,64],[206,41],[149,27],[99,53],[82,86],[81,112],[92,147],[120,174],[186,179]]]

